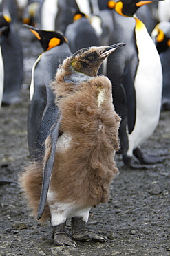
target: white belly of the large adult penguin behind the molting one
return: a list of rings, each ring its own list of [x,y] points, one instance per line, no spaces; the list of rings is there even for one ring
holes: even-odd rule
[[[138,33],[140,32],[140,33]],[[151,37],[146,29],[137,31],[139,64],[134,86],[136,90],[136,123],[134,130],[129,134],[129,150],[132,156],[133,149],[153,134],[160,117],[162,97],[162,66]]]

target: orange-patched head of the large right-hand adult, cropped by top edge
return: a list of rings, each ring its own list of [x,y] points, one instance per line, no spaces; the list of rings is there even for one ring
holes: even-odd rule
[[[115,5],[115,10],[120,15],[133,16],[140,6],[159,0],[120,0]]]

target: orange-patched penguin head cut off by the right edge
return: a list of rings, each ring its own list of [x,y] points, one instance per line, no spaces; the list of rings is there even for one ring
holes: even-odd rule
[[[170,23],[162,21],[156,25],[152,32],[153,41],[156,44],[158,53],[170,48]]]

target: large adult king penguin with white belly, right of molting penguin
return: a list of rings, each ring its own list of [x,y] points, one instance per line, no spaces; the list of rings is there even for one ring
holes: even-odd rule
[[[119,133],[123,162],[135,168],[133,154],[141,164],[160,161],[155,156],[145,156],[140,150],[140,145],[158,125],[162,95],[158,51],[145,25],[133,16],[140,6],[151,2],[118,1],[113,13],[114,33],[109,41],[109,44],[127,44],[114,57],[108,57],[107,77],[113,84],[115,109],[122,118]]]

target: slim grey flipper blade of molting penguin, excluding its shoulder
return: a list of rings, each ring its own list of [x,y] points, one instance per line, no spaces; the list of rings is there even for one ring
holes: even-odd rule
[[[37,219],[41,219],[43,215],[43,211],[45,208],[45,203],[47,200],[47,192],[50,185],[50,178],[52,174],[52,167],[54,165],[54,158],[55,158],[55,151],[56,151],[56,143],[57,139],[59,137],[59,126],[60,126],[60,119],[55,122],[55,124],[52,127],[52,131],[50,134],[51,138],[51,149],[50,149],[50,157],[47,159],[47,162],[45,163],[45,166],[43,168],[43,185],[41,188],[41,196],[39,201],[39,208],[37,212]]]

